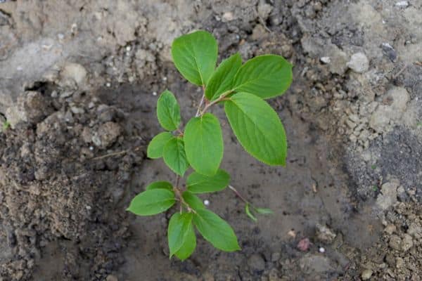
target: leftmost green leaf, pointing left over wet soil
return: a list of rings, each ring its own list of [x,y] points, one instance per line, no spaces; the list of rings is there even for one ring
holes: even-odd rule
[[[127,211],[138,216],[151,216],[170,209],[176,199],[174,193],[166,189],[146,190],[136,195]]]

